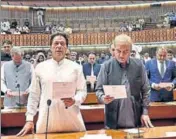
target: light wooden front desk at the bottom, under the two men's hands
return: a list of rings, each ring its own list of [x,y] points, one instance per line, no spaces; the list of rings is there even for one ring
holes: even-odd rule
[[[166,132],[176,132],[176,126],[168,126],[168,127],[154,127],[154,128],[141,128],[144,130],[144,138],[165,138]],[[124,139],[126,133],[123,130],[96,130],[96,131],[87,131],[87,132],[77,132],[77,133],[52,133],[48,134],[48,139],[80,139],[85,134],[103,134],[112,136],[112,139]],[[35,134],[26,135],[24,137],[20,137],[19,139],[44,139],[44,134]],[[17,139],[16,136],[3,136],[2,139]],[[174,137],[176,138],[176,137]]]

